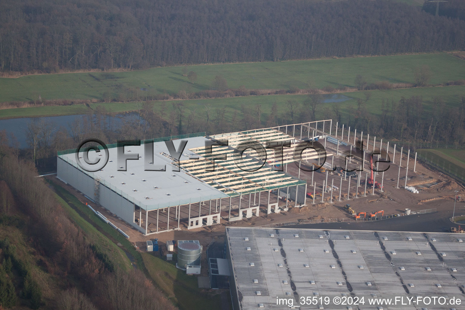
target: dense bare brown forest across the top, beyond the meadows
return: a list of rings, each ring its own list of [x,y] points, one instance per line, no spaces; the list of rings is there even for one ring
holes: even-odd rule
[[[2,0],[0,71],[456,50],[465,46],[460,2],[434,16],[426,4],[425,11],[391,0]]]

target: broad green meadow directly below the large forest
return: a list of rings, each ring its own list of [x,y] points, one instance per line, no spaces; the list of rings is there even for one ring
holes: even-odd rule
[[[198,79],[190,83],[182,76],[182,66],[152,68],[117,73],[60,73],[0,78],[0,102],[42,99],[101,99],[106,91],[114,96],[127,87],[149,92],[197,92],[209,89],[216,75],[222,75],[230,88],[289,89],[324,86],[354,86],[362,74],[367,82],[413,82],[413,68],[428,65],[430,83],[465,79],[465,61],[447,53],[355,57],[341,59],[293,60],[226,65],[189,66]],[[140,90],[140,92],[144,92]]]

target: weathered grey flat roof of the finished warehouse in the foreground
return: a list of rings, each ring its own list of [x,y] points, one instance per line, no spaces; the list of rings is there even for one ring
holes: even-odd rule
[[[458,237],[449,233],[226,228],[231,278],[236,284],[241,310],[259,309],[259,304],[265,309],[289,309],[277,305],[276,297],[353,294],[365,298],[462,296],[463,299],[465,245]],[[376,309],[366,304],[359,308]],[[347,308],[324,305],[324,309]],[[384,309],[421,309],[421,306]]]

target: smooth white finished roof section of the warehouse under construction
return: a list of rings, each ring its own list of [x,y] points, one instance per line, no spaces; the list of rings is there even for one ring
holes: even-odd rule
[[[181,158],[179,158],[180,161],[186,160],[190,156],[197,156],[197,154],[192,153],[189,149],[205,146],[205,141],[208,139],[205,137],[194,137],[182,140],[187,140],[187,145]],[[176,150],[178,150],[179,143],[180,140],[173,141]],[[127,160],[126,171],[118,171],[117,148],[109,148],[108,152],[109,160],[102,171],[86,173],[93,178],[100,178],[101,185],[109,187],[131,202],[135,201],[136,205],[144,210],[150,211],[179,204],[189,204],[190,202],[196,203],[229,197],[225,193],[184,172],[182,165],[179,172],[173,171],[172,159],[165,156],[165,154],[169,154],[165,142],[153,143],[153,165],[166,165],[166,171],[144,171],[144,165],[147,161],[144,154],[144,145],[125,147],[126,154],[138,153],[140,156],[139,160]],[[100,154],[103,155],[102,158],[105,157],[104,152],[101,151]],[[83,152],[80,152],[79,156],[82,157],[82,155]],[[89,160],[92,161],[97,156],[97,152],[89,152]],[[72,161],[75,165],[75,153],[60,155],[59,157],[68,162]],[[85,164],[83,159],[81,159],[81,163]],[[154,188],[154,186],[158,188]]]

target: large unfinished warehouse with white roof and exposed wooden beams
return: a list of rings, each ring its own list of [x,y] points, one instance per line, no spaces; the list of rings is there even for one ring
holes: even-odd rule
[[[279,213],[308,204],[309,197],[314,204],[316,195],[308,196],[309,191],[320,191],[322,202],[337,199],[338,191],[339,201],[351,194],[366,196],[370,191],[366,183],[365,192],[359,192],[359,187],[363,189],[363,172],[342,176],[340,171],[333,174],[329,169],[339,166],[363,170],[365,166],[366,171],[370,163],[365,157],[369,135],[366,144],[361,144],[361,152],[356,145],[363,140],[363,132],[357,136],[350,127],[344,130],[337,123],[334,126],[332,120],[211,136],[199,133],[145,140],[140,145],[109,145],[106,165],[95,172],[78,165],[86,159],[85,149],[62,151],[57,158],[57,176],[134,229],[150,235]],[[169,151],[170,143],[177,154]],[[186,145],[180,150],[182,143]],[[373,151],[375,143],[376,137]],[[153,153],[147,146],[153,146]],[[386,149],[389,154],[389,143]],[[392,162],[395,146],[393,150]],[[119,161],[118,151],[137,160]],[[104,152],[88,152],[90,161],[104,157]],[[158,171],[147,171],[147,165]],[[314,181],[314,166],[326,167],[326,179],[320,174],[320,180]],[[355,176],[358,179],[351,185]],[[364,177],[368,180],[368,173]],[[380,177],[380,184],[374,181]],[[380,177],[372,175],[372,184],[382,191],[384,172]],[[346,183],[347,191],[342,192]]]

